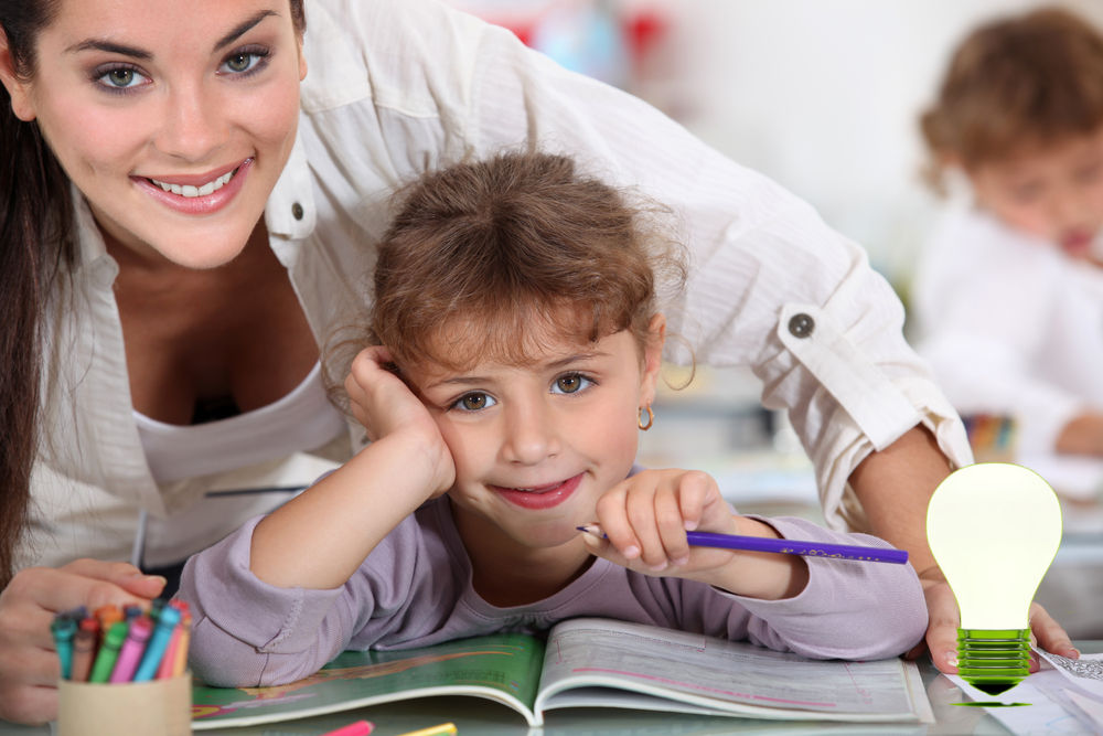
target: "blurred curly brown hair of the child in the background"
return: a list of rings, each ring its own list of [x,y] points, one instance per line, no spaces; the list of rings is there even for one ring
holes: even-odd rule
[[[954,51],[920,117],[928,179],[944,161],[966,170],[1103,126],[1103,34],[1061,8],[986,23]]]

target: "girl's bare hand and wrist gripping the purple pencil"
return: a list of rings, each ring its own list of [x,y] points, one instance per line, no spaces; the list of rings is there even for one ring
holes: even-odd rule
[[[696,470],[644,470],[597,505],[608,540],[583,535],[589,552],[645,575],[699,580],[756,598],[786,598],[807,583],[794,555],[690,547],[687,531],[778,537],[772,526],[731,513],[716,481]]]

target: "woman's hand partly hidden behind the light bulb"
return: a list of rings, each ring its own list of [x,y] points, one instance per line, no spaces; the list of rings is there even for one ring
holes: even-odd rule
[[[919,576],[927,596],[929,623],[924,643],[908,652],[910,659],[919,657],[923,649],[929,649],[934,666],[947,674],[957,672],[957,627],[961,617],[957,612],[957,599],[954,598],[950,584],[938,567],[923,570]],[[1069,634],[1053,620],[1046,609],[1037,602],[1030,604],[1030,638],[1047,652],[1061,654],[1071,659],[1080,657],[1072,646]],[[1031,663],[1031,671],[1037,663]]]

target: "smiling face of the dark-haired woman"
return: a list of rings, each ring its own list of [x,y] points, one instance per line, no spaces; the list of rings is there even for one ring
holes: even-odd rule
[[[12,107],[109,239],[193,268],[240,252],[295,142],[287,0],[62,0],[35,57],[20,82],[0,54]]]

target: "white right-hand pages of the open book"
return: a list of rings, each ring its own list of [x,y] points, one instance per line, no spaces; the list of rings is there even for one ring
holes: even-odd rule
[[[746,642],[603,619],[558,625],[548,638],[537,710],[611,703],[593,687],[674,698],[694,712],[757,718],[920,721],[929,708],[914,664],[810,660]],[[587,689],[574,696],[575,687]],[[618,694],[619,706],[624,698]],[[640,707],[678,710],[671,700]]]

